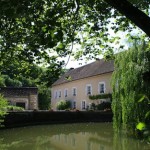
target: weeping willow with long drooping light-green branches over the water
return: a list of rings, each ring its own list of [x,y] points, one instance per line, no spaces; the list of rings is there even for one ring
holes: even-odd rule
[[[150,110],[150,46],[135,44],[115,58],[113,73],[114,127],[135,129],[138,122],[148,121]]]

